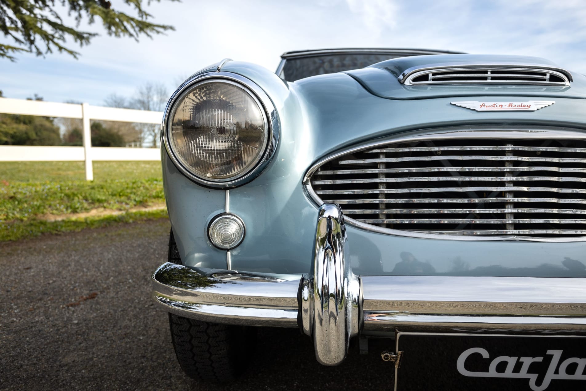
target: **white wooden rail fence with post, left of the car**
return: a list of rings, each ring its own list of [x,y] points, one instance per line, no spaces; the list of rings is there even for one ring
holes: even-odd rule
[[[85,161],[86,179],[93,181],[92,162],[117,160],[160,160],[158,148],[91,147],[90,120],[160,124],[160,111],[90,106],[87,103],[54,103],[0,98],[0,113],[77,118],[83,123],[83,147],[21,147],[0,145],[0,161]]]

